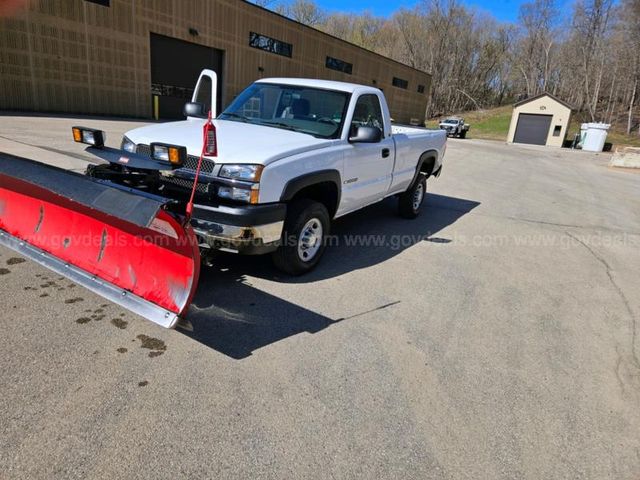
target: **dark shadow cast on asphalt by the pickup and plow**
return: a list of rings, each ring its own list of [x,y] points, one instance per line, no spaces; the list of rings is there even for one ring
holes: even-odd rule
[[[334,244],[321,264],[303,277],[275,270],[268,256],[221,254],[204,268],[189,311],[190,338],[234,359],[299,333],[316,333],[345,318],[331,319],[254,288],[247,277],[281,283],[313,283],[384,262],[423,242],[446,244],[435,236],[479,205],[478,202],[429,194],[423,214],[415,220],[397,215],[395,199],[339,219]],[[390,305],[373,305],[372,310]],[[357,315],[356,315],[357,316]]]

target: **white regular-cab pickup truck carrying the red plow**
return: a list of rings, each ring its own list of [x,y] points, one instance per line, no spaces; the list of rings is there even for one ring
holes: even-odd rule
[[[92,177],[185,198],[211,110],[217,152],[203,158],[191,219],[205,253],[273,253],[278,268],[305,273],[322,256],[332,219],[390,196],[398,197],[400,215],[415,218],[427,178],[442,170],[446,133],[392,125],[379,89],[262,79],[216,117],[216,88],[215,73],[203,71],[185,105],[186,120],[127,132],[120,150],[94,152],[110,163],[87,170]],[[186,147],[180,167],[140,165],[143,156],[158,160],[154,145],[159,151],[163,145]],[[131,154],[135,158],[126,157]]]

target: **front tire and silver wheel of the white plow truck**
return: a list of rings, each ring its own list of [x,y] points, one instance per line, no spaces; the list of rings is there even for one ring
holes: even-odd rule
[[[330,228],[323,204],[306,198],[294,201],[284,222],[281,245],[273,253],[276,268],[295,276],[313,270],[324,253]]]

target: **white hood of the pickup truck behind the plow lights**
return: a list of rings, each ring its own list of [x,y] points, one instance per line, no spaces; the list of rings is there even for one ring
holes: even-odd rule
[[[264,127],[243,122],[214,120],[218,139],[216,163],[253,163],[267,165],[281,158],[332,145],[335,140],[304,133]],[[159,123],[130,130],[125,135],[137,144],[169,143],[187,147],[189,155],[202,152],[202,127],[205,120],[188,119]]]

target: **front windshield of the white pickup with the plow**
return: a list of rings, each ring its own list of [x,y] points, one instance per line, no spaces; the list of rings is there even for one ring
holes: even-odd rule
[[[254,83],[218,118],[338,138],[349,95],[294,85]]]

